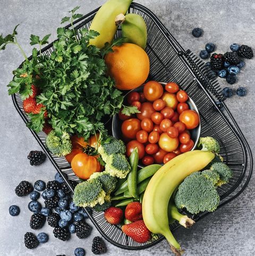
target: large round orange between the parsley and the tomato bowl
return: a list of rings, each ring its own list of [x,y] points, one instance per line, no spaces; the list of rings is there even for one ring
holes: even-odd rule
[[[150,70],[147,53],[140,46],[130,43],[114,46],[113,51],[105,56],[105,62],[116,87],[131,90],[142,85]]]

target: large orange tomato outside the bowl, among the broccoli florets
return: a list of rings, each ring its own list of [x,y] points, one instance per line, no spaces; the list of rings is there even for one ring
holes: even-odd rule
[[[75,175],[81,179],[89,179],[94,172],[101,171],[100,163],[95,156],[79,153],[74,156],[71,167]]]

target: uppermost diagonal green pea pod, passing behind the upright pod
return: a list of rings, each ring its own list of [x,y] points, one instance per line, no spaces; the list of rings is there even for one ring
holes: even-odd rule
[[[160,167],[162,167],[160,164],[151,164],[150,166],[142,168],[140,171],[137,172],[137,184],[154,175]],[[114,193],[114,195],[120,195],[128,189],[128,181],[125,180],[124,183],[122,183],[122,185]]]

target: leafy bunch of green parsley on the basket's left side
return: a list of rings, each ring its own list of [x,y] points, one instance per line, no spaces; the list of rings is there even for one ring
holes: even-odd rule
[[[77,14],[79,7],[75,7],[71,17],[62,19],[62,23],[69,21],[68,29],[58,28],[57,37],[53,44],[54,51],[48,55],[41,54],[41,46],[48,43],[50,35],[40,40],[31,35],[30,44],[39,44],[39,53],[34,48],[32,59],[25,56],[21,69],[16,69],[14,79],[10,82],[8,93],[20,93],[22,99],[32,95],[31,85],[40,89],[37,103],[45,105],[39,114],[29,114],[28,126],[39,132],[43,129],[47,110],[48,123],[61,134],[77,134],[88,139],[96,131],[106,134],[105,116],[112,116],[120,111],[130,115],[139,112],[134,106],[123,105],[122,92],[115,88],[115,82],[106,75],[107,67],[104,55],[112,51],[113,45],[123,42],[118,39],[113,45],[106,45],[99,49],[89,45],[89,40],[98,36],[98,32],[84,28],[75,29],[73,21],[81,18]],[[6,44],[17,44],[16,28],[12,35],[0,37],[0,49]]]

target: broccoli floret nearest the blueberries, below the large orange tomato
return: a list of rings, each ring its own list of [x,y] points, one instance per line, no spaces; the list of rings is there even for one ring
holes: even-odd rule
[[[73,202],[80,207],[94,207],[105,202],[103,185],[98,179],[79,183],[74,189]]]

